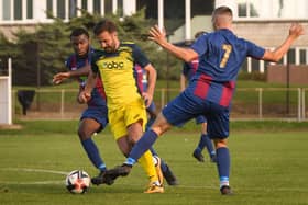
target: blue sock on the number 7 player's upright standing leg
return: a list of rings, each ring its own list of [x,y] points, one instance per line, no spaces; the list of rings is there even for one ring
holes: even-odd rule
[[[221,147],[216,150],[217,168],[220,179],[220,186],[229,185],[230,174],[230,155],[227,147]]]

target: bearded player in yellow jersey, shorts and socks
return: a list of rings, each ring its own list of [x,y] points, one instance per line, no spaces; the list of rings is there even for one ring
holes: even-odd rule
[[[87,102],[90,99],[96,78],[100,76],[107,95],[111,132],[122,153],[128,156],[145,130],[147,122],[145,109],[153,100],[156,70],[134,43],[120,42],[113,22],[109,20],[99,22],[94,33],[102,49],[95,50],[92,55],[91,71],[79,100]],[[142,94],[134,78],[135,64],[148,72],[148,89]],[[151,151],[147,150],[139,162],[150,178],[150,186],[145,193],[163,193],[161,168],[160,164],[155,168]]]

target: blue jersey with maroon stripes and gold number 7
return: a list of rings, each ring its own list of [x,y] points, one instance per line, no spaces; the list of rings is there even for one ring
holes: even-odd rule
[[[227,29],[202,35],[191,48],[198,53],[200,61],[188,89],[226,107],[231,103],[243,59],[246,56],[260,59],[264,54],[263,48]]]

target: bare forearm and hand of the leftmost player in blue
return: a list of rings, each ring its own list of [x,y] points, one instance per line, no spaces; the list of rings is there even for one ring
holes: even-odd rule
[[[69,70],[67,72],[58,72],[53,77],[53,83],[59,84],[64,80],[75,77],[81,77],[81,76],[88,76],[90,70],[90,66],[85,66],[82,68],[79,68],[77,70]]]

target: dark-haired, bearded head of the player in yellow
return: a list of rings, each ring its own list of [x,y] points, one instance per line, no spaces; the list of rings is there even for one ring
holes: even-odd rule
[[[102,20],[96,24],[94,33],[98,39],[99,45],[106,52],[116,52],[119,47],[119,38],[117,25],[110,20]]]

